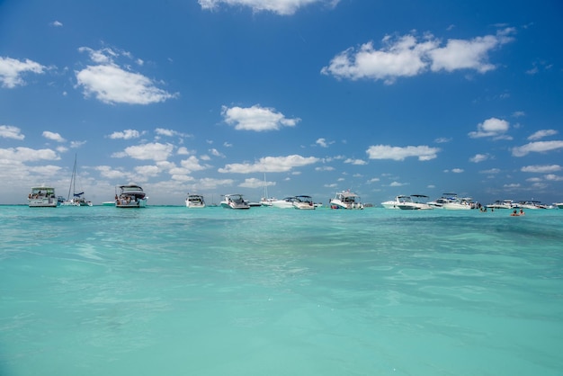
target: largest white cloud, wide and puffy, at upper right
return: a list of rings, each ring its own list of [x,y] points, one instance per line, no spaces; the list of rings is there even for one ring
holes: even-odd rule
[[[496,35],[472,40],[448,40],[444,47],[440,47],[441,40],[432,35],[424,36],[423,40],[417,40],[414,35],[395,39],[386,36],[382,40],[383,48],[375,49],[370,41],[358,49],[346,49],[323,67],[321,73],[352,80],[383,80],[386,84],[393,84],[398,77],[417,76],[428,70],[473,69],[485,73],[495,68],[487,62],[488,53],[512,40],[508,35],[513,31],[505,29]]]

